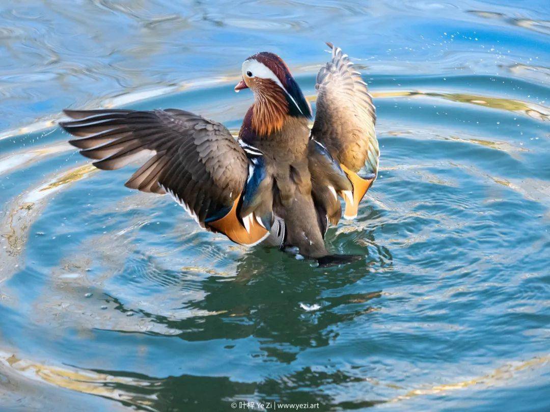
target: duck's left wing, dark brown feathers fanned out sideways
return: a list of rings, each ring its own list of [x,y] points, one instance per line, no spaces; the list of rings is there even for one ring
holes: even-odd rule
[[[125,183],[128,188],[169,193],[201,227],[240,244],[256,244],[269,234],[254,207],[241,216],[254,165],[222,124],[177,109],[65,114],[74,120],[61,127],[78,137],[69,143],[96,160],[99,169],[119,169],[150,156]]]

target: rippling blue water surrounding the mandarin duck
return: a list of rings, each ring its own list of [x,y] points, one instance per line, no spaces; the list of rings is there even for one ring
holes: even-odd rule
[[[545,1],[4,2],[0,410],[549,410],[549,21]],[[324,41],[378,112],[379,178],[327,234],[359,262],[202,232],[53,126],[175,107],[238,130],[241,62],[276,52],[314,98]]]

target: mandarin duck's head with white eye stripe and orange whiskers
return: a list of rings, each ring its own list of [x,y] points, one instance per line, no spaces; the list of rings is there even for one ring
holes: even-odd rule
[[[252,128],[268,135],[282,128],[288,116],[311,118],[311,107],[287,64],[277,54],[256,53],[243,63],[243,79],[235,91],[254,93]]]

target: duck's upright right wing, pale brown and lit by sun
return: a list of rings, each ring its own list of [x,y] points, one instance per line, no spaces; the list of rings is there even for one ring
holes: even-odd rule
[[[378,172],[376,109],[348,55],[327,45],[332,48],[332,60],[317,74],[317,113],[311,134],[340,163],[353,185],[352,196],[340,193],[346,202],[344,217],[353,218]],[[357,174],[361,169],[362,177]]]

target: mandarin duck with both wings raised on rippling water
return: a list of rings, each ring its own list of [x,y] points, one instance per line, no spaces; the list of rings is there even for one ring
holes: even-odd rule
[[[361,74],[331,43],[317,74],[316,116],[287,64],[270,52],[246,59],[235,91],[254,103],[238,140],[221,123],[179,109],[65,110],[69,143],[113,170],[147,154],[128,188],[170,194],[211,232],[241,245],[293,250],[321,266],[357,259],[332,255],[329,224],[357,215],[376,179],[376,111]],[[360,174],[361,173],[361,174]]]

